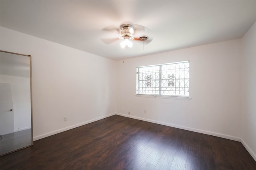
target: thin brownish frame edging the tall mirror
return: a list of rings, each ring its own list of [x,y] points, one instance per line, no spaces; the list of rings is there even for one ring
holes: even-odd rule
[[[32,145],[34,145],[34,140],[33,140],[33,109],[32,109],[32,65],[31,65],[31,55],[24,55],[24,54],[19,54],[19,53],[12,53],[12,52],[9,52],[9,51],[2,51],[0,50],[0,52],[3,52],[3,53],[10,53],[10,54],[14,54],[14,55],[22,55],[22,56],[26,56],[26,57],[29,57],[29,63],[30,63],[30,107],[31,107],[31,145],[28,145],[26,147],[22,147],[20,149],[24,149],[24,148],[27,148],[27,147],[31,147]],[[4,156],[6,154],[9,154],[9,153],[12,153],[12,152],[15,152],[17,150],[20,150],[20,149],[16,149],[16,150],[13,150],[11,152],[8,152],[8,153],[5,153],[5,154],[2,154],[1,156]]]

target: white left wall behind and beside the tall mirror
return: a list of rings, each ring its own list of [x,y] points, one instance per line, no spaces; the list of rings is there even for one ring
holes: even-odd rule
[[[116,61],[4,27],[0,31],[1,50],[32,56],[34,140],[115,112]]]

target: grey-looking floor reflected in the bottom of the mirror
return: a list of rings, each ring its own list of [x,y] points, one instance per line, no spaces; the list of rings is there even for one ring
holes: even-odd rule
[[[6,154],[14,150],[31,145],[31,129],[1,135],[0,154]]]

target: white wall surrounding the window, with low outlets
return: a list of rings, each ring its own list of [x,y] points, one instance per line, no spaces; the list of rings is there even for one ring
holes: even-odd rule
[[[187,60],[191,100],[135,96],[136,67]],[[118,61],[117,70],[120,115],[240,141],[241,39]]]

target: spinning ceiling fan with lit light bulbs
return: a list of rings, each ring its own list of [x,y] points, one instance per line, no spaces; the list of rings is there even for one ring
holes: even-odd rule
[[[106,44],[110,44],[114,41],[122,40],[122,42],[120,43],[122,48],[132,47],[133,45],[132,41],[143,41],[143,45],[144,43],[148,44],[152,41],[152,38],[149,38],[146,35],[138,36],[141,31],[148,30],[147,27],[144,27],[142,25],[125,23],[120,25],[119,28],[109,26],[109,27],[105,27],[102,30],[117,31],[119,35],[117,35],[116,38],[108,38],[108,39],[101,39],[101,40]]]

